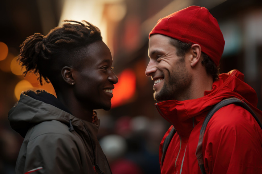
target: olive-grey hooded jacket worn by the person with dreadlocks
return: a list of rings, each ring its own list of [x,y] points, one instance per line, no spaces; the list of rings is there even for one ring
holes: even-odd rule
[[[100,121],[93,124],[74,117],[52,94],[22,93],[8,119],[24,137],[16,174],[111,173],[96,138]]]

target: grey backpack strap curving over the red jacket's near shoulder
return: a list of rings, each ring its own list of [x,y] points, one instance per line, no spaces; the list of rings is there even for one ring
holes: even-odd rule
[[[237,104],[237,105],[242,106],[244,109],[248,110],[248,112],[250,112],[252,114],[252,116],[255,118],[255,120],[259,124],[260,128],[262,129],[262,124],[259,121],[258,117],[252,111],[252,109],[244,102],[244,100],[240,100],[238,98],[227,98],[225,100],[220,101],[216,105],[214,105],[212,107],[212,109],[210,109],[210,111],[207,113],[207,116],[204,119],[203,125],[200,129],[199,141],[198,141],[198,145],[197,145],[197,148],[196,148],[196,157],[197,157],[199,167],[200,167],[202,174],[206,173],[205,168],[204,168],[204,159],[203,159],[203,151],[202,151],[203,144],[202,143],[203,143],[204,133],[205,133],[206,128],[207,128],[207,123],[210,121],[211,117],[213,116],[213,114],[216,111],[218,111],[223,106],[226,106],[226,105],[229,105],[229,104]]]

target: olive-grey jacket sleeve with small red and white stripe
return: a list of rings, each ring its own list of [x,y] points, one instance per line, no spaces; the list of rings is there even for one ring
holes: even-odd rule
[[[27,144],[24,173],[82,173],[81,160],[72,138],[58,133],[46,133]]]

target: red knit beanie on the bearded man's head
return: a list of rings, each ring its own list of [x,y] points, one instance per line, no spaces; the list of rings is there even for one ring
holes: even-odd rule
[[[163,34],[182,42],[199,44],[215,65],[219,65],[225,41],[217,20],[205,7],[190,6],[159,19],[149,33]]]

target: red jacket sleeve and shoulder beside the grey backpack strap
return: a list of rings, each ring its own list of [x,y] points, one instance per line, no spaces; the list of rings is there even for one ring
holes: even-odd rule
[[[207,125],[203,153],[206,173],[262,173],[262,131],[247,110],[225,106]]]

